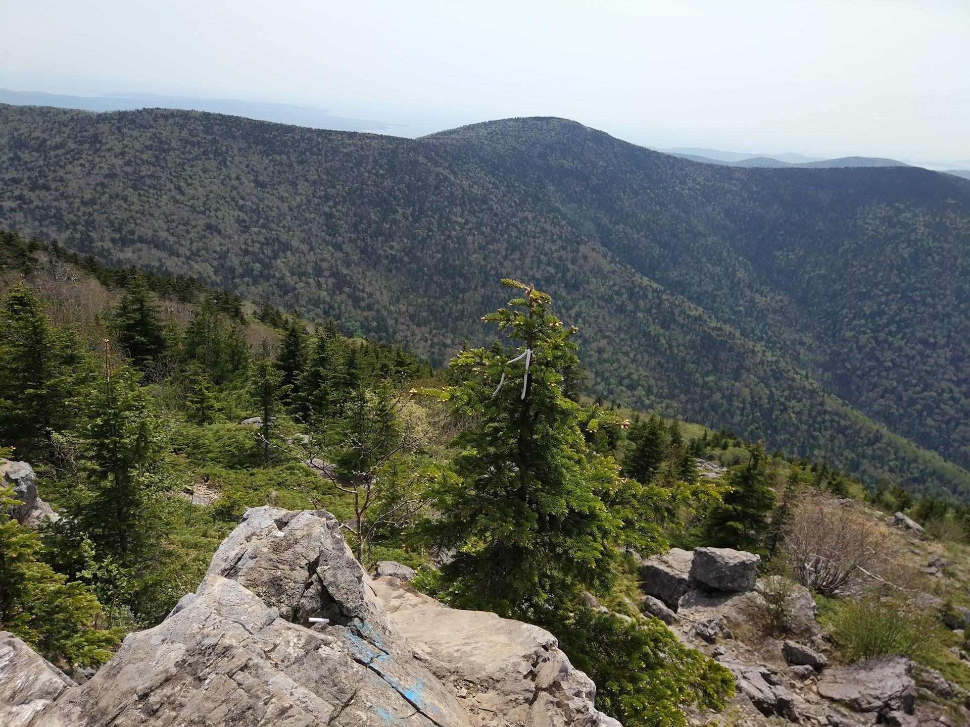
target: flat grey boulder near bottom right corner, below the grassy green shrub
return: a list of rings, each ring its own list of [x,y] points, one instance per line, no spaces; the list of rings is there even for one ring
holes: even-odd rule
[[[912,714],[916,703],[912,667],[905,656],[886,654],[844,669],[829,669],[819,680],[819,696],[853,711],[876,712],[884,721],[892,712]]]

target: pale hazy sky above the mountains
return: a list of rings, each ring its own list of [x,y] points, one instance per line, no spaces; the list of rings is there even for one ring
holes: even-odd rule
[[[0,86],[320,106],[425,133],[970,160],[970,0],[0,0]]]

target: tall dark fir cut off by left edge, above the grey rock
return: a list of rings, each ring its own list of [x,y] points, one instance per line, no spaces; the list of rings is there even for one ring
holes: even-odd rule
[[[70,424],[68,402],[88,372],[78,340],[52,327],[44,307],[22,283],[0,298],[0,443],[35,461]]]

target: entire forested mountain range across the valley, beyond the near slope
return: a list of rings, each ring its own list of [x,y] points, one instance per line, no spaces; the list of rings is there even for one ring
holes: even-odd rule
[[[970,183],[702,165],[563,119],[420,140],[0,107],[0,226],[442,365],[534,281],[592,395],[970,494]],[[915,445],[917,446],[914,446]]]

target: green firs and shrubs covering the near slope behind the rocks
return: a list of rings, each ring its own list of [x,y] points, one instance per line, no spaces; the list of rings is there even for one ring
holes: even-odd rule
[[[639,556],[745,549],[786,581],[795,511],[835,497],[965,543],[970,508],[583,396],[578,330],[534,286],[501,283],[512,300],[481,318],[496,339],[443,371],[333,319],[0,234],[0,457],[31,462],[60,516],[28,527],[0,489],[0,630],[71,673],[97,666],[199,584],[246,507],[326,508],[365,567],[398,560],[446,604],[548,629],[598,709],[683,727],[685,706],[723,710],[734,681],[644,610]],[[854,661],[868,612],[833,603]],[[906,619],[912,603],[889,607]],[[905,652],[956,662],[962,689],[952,638]]]

